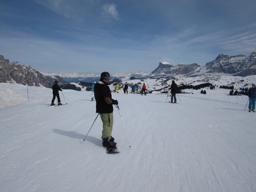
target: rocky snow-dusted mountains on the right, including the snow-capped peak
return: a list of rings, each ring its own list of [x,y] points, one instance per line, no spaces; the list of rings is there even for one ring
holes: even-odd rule
[[[178,64],[173,66],[167,62],[160,62],[159,66],[152,71],[149,77],[192,77],[202,75],[227,75],[227,76],[250,76],[256,75],[256,52],[250,55],[228,56],[220,54],[212,62],[205,66],[193,64]]]

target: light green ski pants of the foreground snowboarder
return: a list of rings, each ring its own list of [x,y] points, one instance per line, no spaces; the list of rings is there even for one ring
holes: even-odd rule
[[[108,138],[108,141],[111,138],[112,128],[113,128],[113,113],[99,113],[100,118],[103,123],[103,130],[102,130],[102,138]]]

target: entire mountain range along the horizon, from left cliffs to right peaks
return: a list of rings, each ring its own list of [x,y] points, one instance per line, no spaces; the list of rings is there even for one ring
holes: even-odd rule
[[[0,82],[19,83],[29,86],[51,87],[55,80],[60,85],[68,82],[94,82],[98,81],[99,74],[44,74],[33,69],[29,65],[18,62],[10,63],[0,55]],[[212,62],[205,66],[193,64],[178,64],[176,66],[168,62],[160,62],[158,67],[151,73],[146,72],[124,72],[111,74],[111,80],[117,78],[132,77],[135,79],[145,78],[174,78],[194,76],[250,76],[256,75],[256,52],[248,56],[228,56],[220,54]]]

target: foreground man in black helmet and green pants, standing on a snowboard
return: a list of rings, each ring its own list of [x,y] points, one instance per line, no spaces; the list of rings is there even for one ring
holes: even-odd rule
[[[94,86],[94,96],[96,100],[96,113],[100,114],[103,124],[102,145],[107,148],[116,148],[114,138],[111,136],[113,128],[113,106],[118,105],[117,100],[112,99],[108,81],[110,74],[102,72],[100,80]]]

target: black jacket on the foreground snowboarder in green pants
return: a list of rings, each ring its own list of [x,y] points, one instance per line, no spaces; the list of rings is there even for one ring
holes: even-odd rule
[[[109,84],[98,81],[94,85],[94,97],[96,100],[96,113],[112,113],[112,104],[107,104],[104,98],[109,97],[112,99]]]

